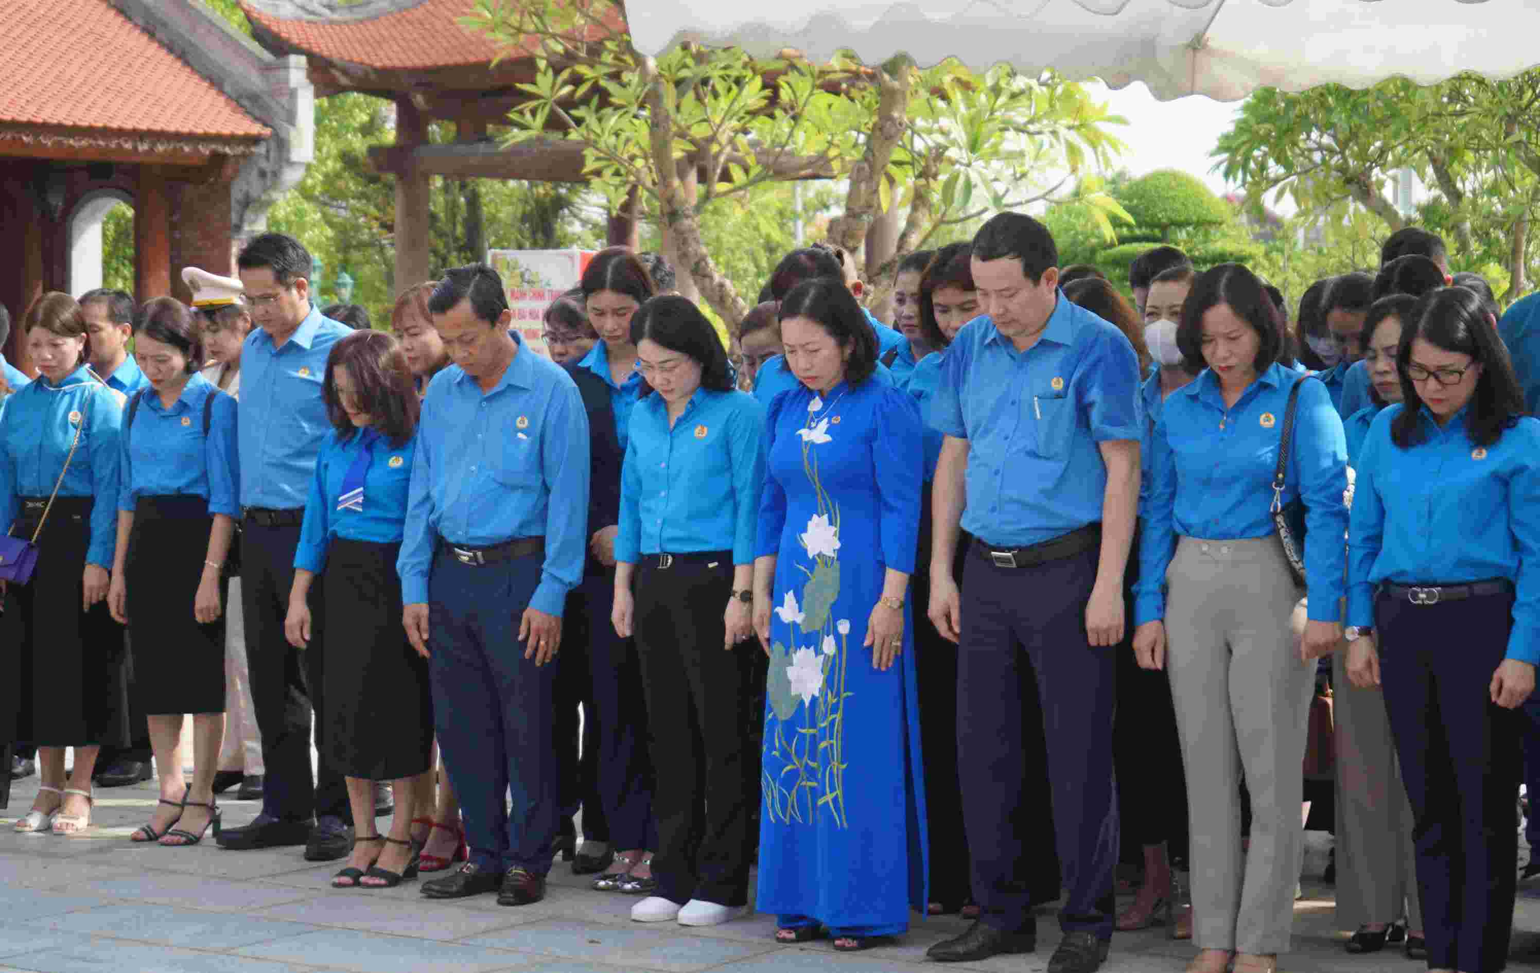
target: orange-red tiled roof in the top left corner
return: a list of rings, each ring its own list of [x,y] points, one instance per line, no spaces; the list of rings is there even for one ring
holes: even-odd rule
[[[266,126],[106,0],[0,0],[0,123],[263,139]]]

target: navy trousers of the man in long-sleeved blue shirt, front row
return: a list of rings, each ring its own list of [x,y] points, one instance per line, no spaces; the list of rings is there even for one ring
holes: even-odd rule
[[[428,580],[434,724],[471,864],[482,870],[551,870],[561,816],[557,662],[536,665],[519,640],[542,560],[471,567],[440,550]]]

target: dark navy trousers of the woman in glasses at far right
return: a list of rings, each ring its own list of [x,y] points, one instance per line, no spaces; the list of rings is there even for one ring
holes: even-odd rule
[[[1523,714],[1492,704],[1514,599],[1375,600],[1380,684],[1412,802],[1428,967],[1494,973],[1514,931]]]

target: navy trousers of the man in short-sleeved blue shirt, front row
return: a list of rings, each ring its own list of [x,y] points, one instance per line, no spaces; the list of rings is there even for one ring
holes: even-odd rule
[[[1086,604],[1098,550],[1030,568],[969,556],[958,647],[958,776],[983,921],[1027,930],[1032,847],[1052,816],[1067,898],[1064,931],[1112,938],[1118,807],[1112,773],[1113,648],[1092,648]],[[1049,787],[1032,784],[1024,725],[1032,676],[1043,707]]]

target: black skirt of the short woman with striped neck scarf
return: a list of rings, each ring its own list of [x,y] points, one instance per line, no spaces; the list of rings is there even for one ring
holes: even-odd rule
[[[397,781],[428,770],[428,660],[402,627],[399,553],[399,543],[334,537],[326,554],[326,750],[348,777]]]

